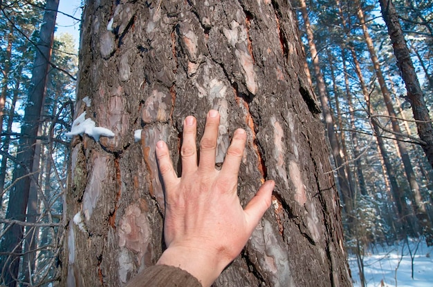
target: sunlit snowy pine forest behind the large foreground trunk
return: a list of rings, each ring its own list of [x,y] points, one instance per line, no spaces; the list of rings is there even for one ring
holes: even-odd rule
[[[433,1],[393,2],[425,106],[432,110]],[[386,250],[400,246],[395,250],[409,261],[421,249],[424,257],[430,256],[432,165],[421,148],[423,141],[379,2],[291,3],[333,151],[329,157],[339,184],[352,276],[356,284],[367,286],[369,279],[363,276],[371,266],[367,257],[375,250],[378,253],[378,246]],[[44,15],[50,12],[45,6],[46,1],[39,0],[0,2],[0,278],[11,261],[19,261],[16,280],[22,286],[48,286],[59,277],[63,195],[70,164],[71,139],[65,133],[73,121],[77,75],[77,39],[71,34],[55,34],[40,120],[29,121],[34,116],[29,111],[35,105],[31,98],[35,58],[40,52],[42,26],[47,23]],[[79,23],[77,14],[80,12],[68,17]],[[29,148],[30,136],[24,132],[29,124],[37,130],[35,143],[30,145],[33,166],[25,166],[20,159]],[[19,168],[23,166],[24,174]],[[23,199],[27,193],[19,190],[19,183],[29,178],[32,184]],[[18,208],[26,210],[25,218],[12,216]],[[5,238],[13,226],[24,228],[24,235],[11,246]],[[432,266],[432,260],[427,259],[427,264]]]

